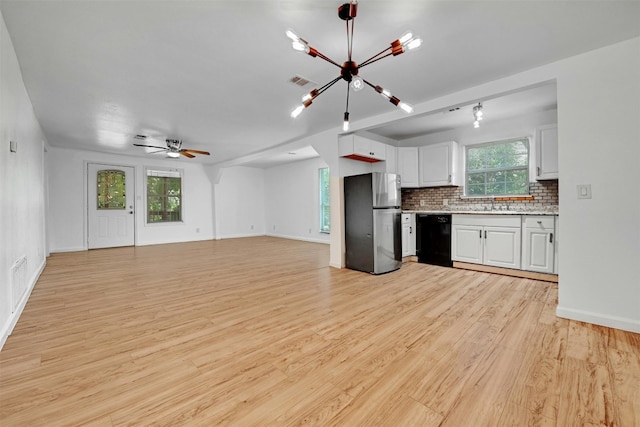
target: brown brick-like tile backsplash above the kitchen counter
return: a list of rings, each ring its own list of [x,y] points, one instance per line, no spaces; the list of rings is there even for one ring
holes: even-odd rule
[[[402,209],[420,210],[557,210],[558,180],[529,184],[528,197],[464,197],[464,187],[403,188]]]

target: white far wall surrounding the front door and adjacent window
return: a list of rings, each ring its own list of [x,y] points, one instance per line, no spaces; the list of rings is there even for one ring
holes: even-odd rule
[[[135,168],[136,245],[213,239],[212,185],[204,165],[163,157],[127,157],[52,147],[48,153],[50,249],[52,252],[87,249],[87,162]],[[146,223],[144,197],[146,167],[182,169],[183,221],[181,223]]]

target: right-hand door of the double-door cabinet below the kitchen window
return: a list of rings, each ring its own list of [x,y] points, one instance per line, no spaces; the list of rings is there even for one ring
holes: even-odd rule
[[[519,227],[485,227],[484,264],[520,269],[520,234]]]

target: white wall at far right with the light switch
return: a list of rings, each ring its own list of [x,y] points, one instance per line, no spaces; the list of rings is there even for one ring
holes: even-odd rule
[[[558,70],[558,314],[640,332],[640,39]],[[578,199],[576,185],[591,184]]]

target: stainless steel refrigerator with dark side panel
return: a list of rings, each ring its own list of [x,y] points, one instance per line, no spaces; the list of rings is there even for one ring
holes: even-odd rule
[[[344,178],[346,265],[372,274],[402,265],[400,175]]]

